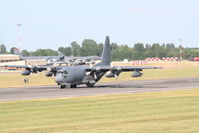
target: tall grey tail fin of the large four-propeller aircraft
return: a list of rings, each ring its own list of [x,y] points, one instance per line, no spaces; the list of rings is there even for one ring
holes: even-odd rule
[[[97,65],[110,65],[111,63],[111,46],[109,36],[106,36],[105,44],[102,51],[101,62]]]

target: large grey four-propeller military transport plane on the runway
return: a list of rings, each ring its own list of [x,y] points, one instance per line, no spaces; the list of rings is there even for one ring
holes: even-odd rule
[[[48,70],[45,74],[47,77],[55,76],[55,82],[60,88],[76,88],[77,85],[86,84],[88,87],[93,87],[102,76],[108,78],[117,77],[123,71],[133,71],[132,77],[141,77],[142,69],[158,69],[159,67],[146,66],[111,66],[111,48],[109,37],[106,37],[103,47],[101,62],[89,66],[17,66],[7,65],[5,67],[25,68],[22,75],[30,75],[44,70]]]

